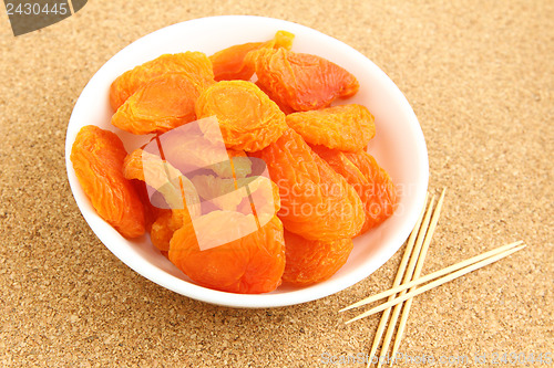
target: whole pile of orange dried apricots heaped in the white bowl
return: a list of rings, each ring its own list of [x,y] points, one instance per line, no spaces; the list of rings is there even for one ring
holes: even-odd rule
[[[266,293],[281,283],[321,282],[346,263],[352,238],[393,212],[392,180],[366,151],[376,134],[373,116],[362,105],[337,104],[358,92],[357,78],[320,56],[293,52],[293,40],[294,34],[278,31],[267,42],[211,56],[165,54],[111,85],[111,123],[132,134],[153,134],[151,141],[215,116],[229,168],[202,168],[209,143],[203,146],[201,136],[209,132],[188,135],[164,157],[145,147],[127,153],[116,134],[92,125],[73,144],[75,175],[99,215],[127,239],[150,233],[152,243],[202,286]],[[175,160],[184,157],[194,158],[188,164],[201,175],[179,171]],[[268,190],[261,190],[264,182],[254,186],[248,159],[265,162]],[[220,229],[238,233],[247,217],[252,220],[246,213],[256,214],[245,198],[216,201],[222,188],[238,188],[240,180],[254,186],[249,197],[271,198],[270,215],[256,220],[253,231],[222,241]],[[148,188],[166,206],[156,204]],[[214,199],[209,206],[202,202],[207,197]],[[236,212],[239,208],[246,212]],[[217,246],[202,249],[198,233],[212,234]]]

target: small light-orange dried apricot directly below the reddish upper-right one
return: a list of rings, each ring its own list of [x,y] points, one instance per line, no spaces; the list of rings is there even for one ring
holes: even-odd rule
[[[373,115],[358,104],[294,113],[287,125],[310,145],[348,151],[362,149],[376,135]]]

